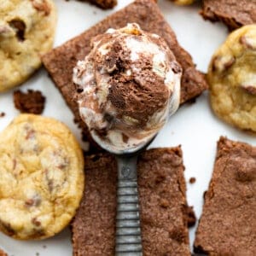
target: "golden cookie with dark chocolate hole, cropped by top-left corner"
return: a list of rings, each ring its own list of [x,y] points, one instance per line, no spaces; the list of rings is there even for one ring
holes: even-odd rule
[[[21,84],[52,48],[56,10],[52,0],[0,1],[0,91]]]

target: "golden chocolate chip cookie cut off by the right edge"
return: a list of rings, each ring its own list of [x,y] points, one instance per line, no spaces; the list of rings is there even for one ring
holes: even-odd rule
[[[212,56],[208,73],[211,103],[219,118],[256,131],[256,25],[232,32]]]

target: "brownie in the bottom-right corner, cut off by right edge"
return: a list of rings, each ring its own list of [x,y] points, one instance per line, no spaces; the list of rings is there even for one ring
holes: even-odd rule
[[[256,147],[220,137],[195,252],[256,255]]]

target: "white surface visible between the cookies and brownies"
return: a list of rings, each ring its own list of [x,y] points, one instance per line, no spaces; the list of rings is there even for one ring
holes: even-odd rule
[[[119,0],[119,5],[115,9],[102,11],[88,3],[55,0],[59,14],[55,46],[73,38],[105,16],[131,2],[130,0]],[[198,15],[199,6],[196,4],[189,7],[177,7],[168,0],[160,0],[159,5],[166,20],[177,33],[179,43],[193,56],[197,67],[206,72],[212,53],[224,41],[228,33],[227,29],[221,24],[213,25],[202,20]],[[73,124],[73,115],[44,68],[23,84],[20,89],[26,90],[27,88],[42,90],[47,97],[44,115],[55,117],[66,123],[79,139],[79,130]],[[0,112],[6,113],[5,117],[0,118],[0,131],[19,114],[14,108],[12,93],[13,91],[9,91],[0,95]],[[216,142],[221,135],[256,145],[256,137],[224,124],[213,115],[207,92],[205,92],[195,104],[187,104],[180,108],[151,145],[151,148],[154,148],[182,144],[188,201],[189,205],[195,207],[197,217],[201,215],[202,196],[212,174]],[[86,147],[83,143],[81,145]],[[196,183],[189,184],[189,177],[196,177]],[[190,230],[189,235],[192,245],[195,228]],[[3,247],[9,255],[14,256],[72,255],[71,236],[68,228],[58,236],[45,241],[15,241],[0,234],[0,247]]]

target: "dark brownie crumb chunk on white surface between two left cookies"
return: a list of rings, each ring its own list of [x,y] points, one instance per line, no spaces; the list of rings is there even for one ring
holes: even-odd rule
[[[27,90],[27,92],[15,90],[14,102],[15,108],[21,113],[40,114],[44,111],[45,96],[40,90]]]

